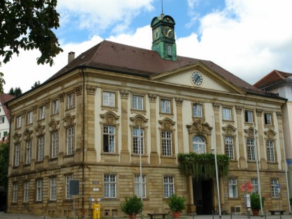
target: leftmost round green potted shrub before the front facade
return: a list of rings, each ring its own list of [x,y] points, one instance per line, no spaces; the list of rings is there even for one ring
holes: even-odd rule
[[[122,212],[126,213],[129,218],[136,218],[138,213],[143,211],[143,202],[136,195],[124,197],[124,202],[120,204]]]

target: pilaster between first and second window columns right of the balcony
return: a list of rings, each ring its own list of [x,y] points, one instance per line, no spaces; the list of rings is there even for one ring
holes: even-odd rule
[[[242,113],[243,108],[241,106],[236,106],[236,120],[237,120],[237,130],[238,130],[238,150],[239,150],[239,168],[248,168],[248,165],[244,156],[244,144],[243,144],[243,120]]]

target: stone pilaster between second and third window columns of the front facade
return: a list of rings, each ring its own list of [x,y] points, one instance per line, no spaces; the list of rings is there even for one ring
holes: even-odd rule
[[[158,164],[159,155],[157,154],[157,127],[156,127],[156,99],[157,95],[148,94],[150,102],[150,133],[151,133],[151,153],[150,153],[150,163]]]

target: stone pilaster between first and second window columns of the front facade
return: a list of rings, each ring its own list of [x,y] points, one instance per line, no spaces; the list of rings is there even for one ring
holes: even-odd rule
[[[130,154],[128,149],[128,97],[129,91],[120,90],[121,108],[122,108],[122,150],[121,163],[130,163]]]

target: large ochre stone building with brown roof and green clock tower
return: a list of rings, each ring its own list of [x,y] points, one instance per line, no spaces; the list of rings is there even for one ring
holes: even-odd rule
[[[186,197],[184,213],[218,212],[216,179],[185,176],[177,160],[215,148],[231,160],[219,180],[222,211],[245,213],[241,185],[258,190],[259,179],[265,210],[279,202],[288,210],[286,99],[209,60],[177,56],[172,17],[154,17],[151,26],[152,50],[104,40],[77,58],[70,53],[62,70],[8,102],[8,212],[72,216],[71,179],[80,181],[78,216],[90,216],[97,198],[102,217],[123,216],[120,202],[140,195],[141,181],[144,214],[168,212],[172,193]]]

